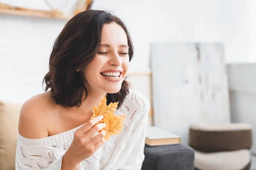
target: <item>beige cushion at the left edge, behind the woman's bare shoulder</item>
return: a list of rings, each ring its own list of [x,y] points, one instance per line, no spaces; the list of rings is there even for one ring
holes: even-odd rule
[[[0,169],[15,170],[21,104],[0,101]]]

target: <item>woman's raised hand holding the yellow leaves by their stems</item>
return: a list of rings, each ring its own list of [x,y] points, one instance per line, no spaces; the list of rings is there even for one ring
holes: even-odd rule
[[[97,116],[75,131],[73,142],[63,156],[61,170],[65,168],[69,170],[76,169],[79,167],[81,161],[89,158],[104,144],[105,130],[101,129],[104,128],[106,124],[99,123],[95,125],[102,119],[103,116]],[[101,130],[101,132],[94,136],[99,130]]]

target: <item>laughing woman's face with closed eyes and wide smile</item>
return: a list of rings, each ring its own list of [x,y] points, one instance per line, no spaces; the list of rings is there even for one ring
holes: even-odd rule
[[[81,70],[88,91],[117,93],[129,68],[128,40],[116,23],[105,24],[99,51],[89,65]]]

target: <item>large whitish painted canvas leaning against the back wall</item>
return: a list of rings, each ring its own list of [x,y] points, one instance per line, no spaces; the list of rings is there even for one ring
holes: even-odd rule
[[[151,44],[151,70],[154,126],[187,144],[191,123],[230,122],[222,44]]]

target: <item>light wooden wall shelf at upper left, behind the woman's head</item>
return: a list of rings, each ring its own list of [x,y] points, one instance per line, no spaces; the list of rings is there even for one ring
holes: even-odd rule
[[[17,9],[6,9],[6,8],[0,8],[0,14],[41,17],[41,18],[56,18],[61,20],[69,20],[72,17],[72,16],[58,16],[58,15],[55,15],[52,11],[17,10]]]

